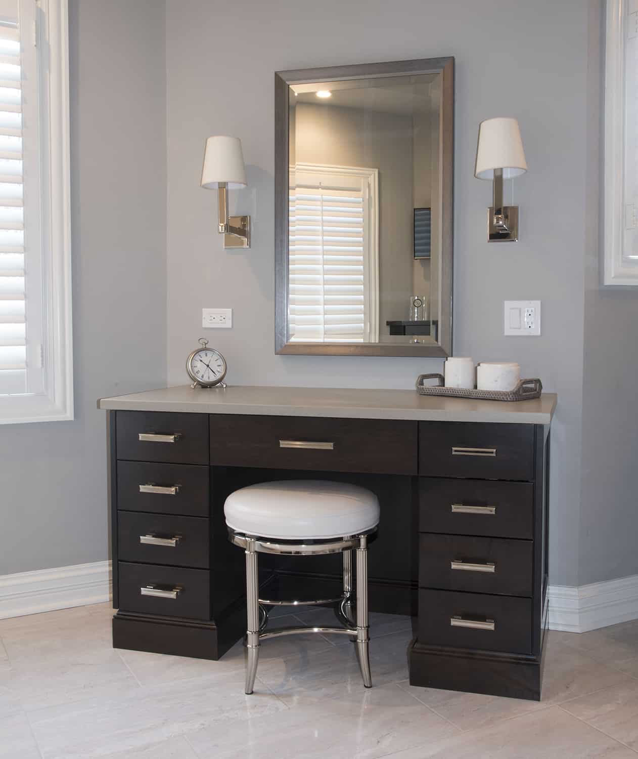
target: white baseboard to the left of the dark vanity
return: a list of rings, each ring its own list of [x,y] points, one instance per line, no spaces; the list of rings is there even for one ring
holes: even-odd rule
[[[39,614],[111,598],[111,562],[0,576],[0,619]]]

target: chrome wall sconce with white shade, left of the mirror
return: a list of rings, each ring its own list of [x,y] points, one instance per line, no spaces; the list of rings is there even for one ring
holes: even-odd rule
[[[238,137],[206,140],[201,186],[218,191],[218,231],[225,248],[250,247],[250,216],[228,216],[228,189],[246,187],[246,168]]]

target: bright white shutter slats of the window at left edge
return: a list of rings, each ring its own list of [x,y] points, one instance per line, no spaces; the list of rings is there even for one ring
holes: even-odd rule
[[[0,394],[26,390],[20,33],[0,20]]]

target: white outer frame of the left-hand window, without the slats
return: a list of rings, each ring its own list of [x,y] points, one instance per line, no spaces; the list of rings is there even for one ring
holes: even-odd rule
[[[23,8],[25,17],[35,13],[33,43],[40,52],[46,51],[46,55],[37,56],[41,187],[40,360],[44,382],[41,392],[0,396],[0,424],[74,418],[68,0],[20,0],[20,10]],[[23,17],[22,13],[20,17]],[[21,38],[24,46],[30,44],[26,29],[21,30]],[[27,272],[27,309],[28,288]]]

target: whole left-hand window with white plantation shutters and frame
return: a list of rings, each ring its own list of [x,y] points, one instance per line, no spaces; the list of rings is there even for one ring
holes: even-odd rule
[[[5,424],[73,412],[67,28],[65,0],[0,0]]]

